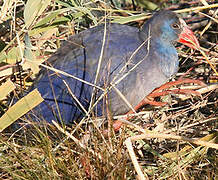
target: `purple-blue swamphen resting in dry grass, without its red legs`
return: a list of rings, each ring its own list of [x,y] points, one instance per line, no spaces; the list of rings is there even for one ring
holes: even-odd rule
[[[34,118],[71,124],[95,102],[92,112],[98,116],[106,109],[113,115],[128,112],[177,72],[177,40],[192,48],[198,44],[185,22],[167,10],[140,30],[107,23],[70,37],[47,61],[68,75],[43,68],[31,88],[45,99]]]

